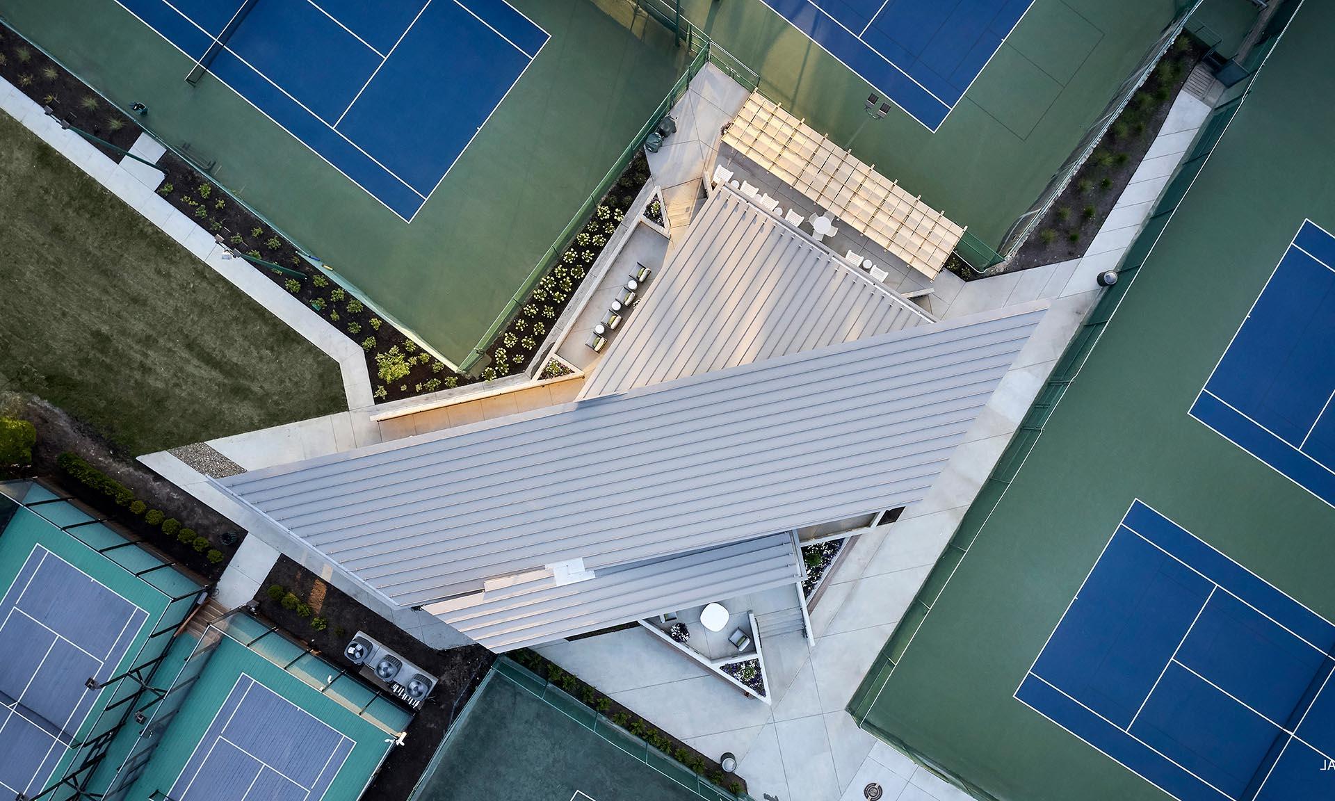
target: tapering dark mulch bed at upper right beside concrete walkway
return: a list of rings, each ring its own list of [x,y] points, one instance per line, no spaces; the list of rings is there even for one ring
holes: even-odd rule
[[[988,275],[1065,262],[1085,254],[1093,235],[1099,232],[1121,191],[1140,167],[1145,151],[1159,135],[1187,76],[1204,53],[1206,48],[1199,41],[1184,35],[1164,55],[1015,258],[1004,267],[989,270]],[[1091,207],[1093,214],[1087,215]],[[1044,234],[1045,231],[1049,234]],[[1077,235],[1075,242],[1071,240],[1072,232]]]

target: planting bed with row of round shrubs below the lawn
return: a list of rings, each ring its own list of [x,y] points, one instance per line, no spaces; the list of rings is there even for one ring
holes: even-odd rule
[[[138,462],[120,461],[91,429],[45,400],[0,392],[0,413],[28,421],[37,433],[32,465],[0,470],[0,478],[43,477],[119,525],[131,539],[204,577],[200,585],[222,575],[246,535],[235,523]],[[150,517],[154,510],[158,514]],[[166,521],[175,523],[164,527]],[[196,547],[200,539],[204,545]]]

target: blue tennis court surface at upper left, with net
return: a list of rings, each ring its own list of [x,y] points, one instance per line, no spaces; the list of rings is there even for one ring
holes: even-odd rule
[[[409,222],[547,41],[505,0],[116,1]]]

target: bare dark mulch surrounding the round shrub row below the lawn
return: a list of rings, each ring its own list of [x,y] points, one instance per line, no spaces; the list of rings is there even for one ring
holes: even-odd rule
[[[160,529],[144,523],[142,518],[111,503],[105,495],[69,479],[56,465],[56,458],[65,451],[83,457],[93,467],[134,490],[135,497],[144,501],[150,509],[160,509],[167,517],[180,521],[182,526],[207,537],[212,546],[227,557],[231,557],[235,545],[224,545],[223,535],[234,535],[236,543],[240,543],[246,537],[244,529],[139,462],[117,457],[111,445],[89,426],[35,395],[0,392],[0,415],[25,419],[37,430],[37,445],[32,450],[32,466],[23,470],[21,477],[40,475],[45,481],[57,483],[71,495],[97,509],[147,543],[203,577],[216,579],[227,566],[226,561],[219,565],[210,563],[204,554],[182,545],[175,537],[164,535]],[[19,475],[8,478],[16,477]]]

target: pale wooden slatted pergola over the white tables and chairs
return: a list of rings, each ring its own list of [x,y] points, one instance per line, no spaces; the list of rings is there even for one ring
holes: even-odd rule
[[[784,183],[934,279],[964,228],[837,147],[760,92],[752,92],[724,142]]]

